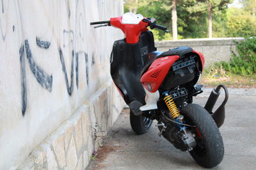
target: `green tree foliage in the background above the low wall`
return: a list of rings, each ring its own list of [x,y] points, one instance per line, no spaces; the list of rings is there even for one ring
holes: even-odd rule
[[[136,0],[125,1],[125,12],[130,11],[129,6],[135,8]],[[232,0],[177,0],[179,39],[209,36],[209,6],[212,13],[212,37],[255,36],[256,19],[253,9],[256,9],[256,0],[240,1],[243,8],[228,8]],[[169,29],[172,27],[172,0],[138,0],[136,11],[145,17],[156,18],[157,24]],[[159,40],[172,39],[172,34],[155,32]]]

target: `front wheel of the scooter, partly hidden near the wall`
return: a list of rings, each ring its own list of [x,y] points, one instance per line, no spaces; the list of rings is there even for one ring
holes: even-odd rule
[[[130,124],[136,134],[145,134],[151,127],[153,120],[144,116],[136,116],[130,111]]]

